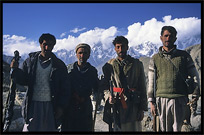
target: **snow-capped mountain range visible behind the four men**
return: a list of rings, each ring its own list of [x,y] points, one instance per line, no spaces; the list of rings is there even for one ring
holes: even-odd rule
[[[198,38],[199,39],[199,38]],[[177,42],[177,48],[179,49],[185,49],[186,47],[190,45],[199,44],[201,41],[195,39],[186,39],[185,41],[178,41]],[[135,58],[140,57],[151,57],[153,54],[158,52],[158,48],[161,45],[153,44],[149,41],[144,42],[143,44],[137,45],[137,46],[131,46],[129,47],[128,54]],[[62,61],[65,62],[66,65],[73,63],[77,61],[75,50],[66,50],[61,49],[56,52],[54,52],[58,58],[60,58]],[[102,66],[111,58],[115,58],[117,55],[114,50],[114,46],[112,45],[108,49],[103,49],[102,44],[96,44],[91,49],[91,56],[88,60],[93,66],[95,66],[98,69],[98,74],[102,74]],[[23,59],[26,59],[27,56],[23,55],[21,56],[22,59],[20,62],[23,61]],[[11,61],[10,56],[3,55],[3,59],[5,62],[10,63]]]

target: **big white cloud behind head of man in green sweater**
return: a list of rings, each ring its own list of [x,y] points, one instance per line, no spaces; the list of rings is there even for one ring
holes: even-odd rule
[[[161,44],[160,33],[161,28],[165,25],[171,25],[177,30],[177,41],[182,41],[186,38],[195,37],[201,34],[201,20],[195,17],[175,18],[172,16],[164,16],[163,21],[157,21],[155,18],[147,20],[144,25],[137,22],[128,27],[126,37],[129,40],[130,46],[142,44],[145,41],[150,41],[154,44]],[[177,42],[176,42],[177,43]]]

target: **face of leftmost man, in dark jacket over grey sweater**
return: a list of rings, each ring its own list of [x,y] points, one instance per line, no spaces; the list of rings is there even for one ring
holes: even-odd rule
[[[46,40],[43,40],[42,44],[40,44],[40,48],[41,48],[42,54],[44,54],[44,56],[50,56],[53,47],[54,47],[54,45],[51,45]]]

